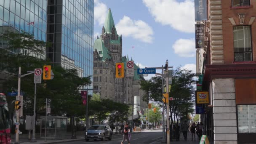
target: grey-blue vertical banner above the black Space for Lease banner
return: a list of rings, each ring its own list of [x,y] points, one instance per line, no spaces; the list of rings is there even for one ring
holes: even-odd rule
[[[207,20],[206,0],[195,0],[195,21]]]

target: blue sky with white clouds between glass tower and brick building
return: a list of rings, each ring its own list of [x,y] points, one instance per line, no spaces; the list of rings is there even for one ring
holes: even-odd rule
[[[109,8],[123,56],[140,68],[161,67],[168,59],[169,67],[196,72],[194,0],[94,0],[94,40]]]

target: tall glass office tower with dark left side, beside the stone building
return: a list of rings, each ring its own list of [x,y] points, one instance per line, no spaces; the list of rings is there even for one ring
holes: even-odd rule
[[[53,65],[92,75],[93,0],[48,0],[47,40]]]

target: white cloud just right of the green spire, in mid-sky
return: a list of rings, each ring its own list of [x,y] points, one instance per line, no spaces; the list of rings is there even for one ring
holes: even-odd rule
[[[117,25],[117,32],[125,37],[133,37],[145,43],[152,43],[153,30],[144,21],[132,20],[128,16],[123,16]]]

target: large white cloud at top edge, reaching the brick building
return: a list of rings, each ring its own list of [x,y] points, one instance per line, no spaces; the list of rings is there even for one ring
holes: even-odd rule
[[[194,0],[143,0],[155,21],[181,32],[195,32]]]

